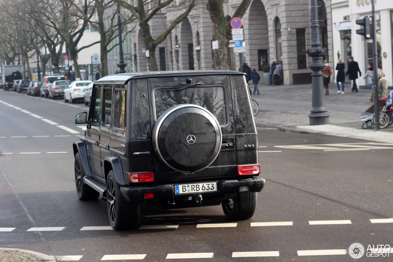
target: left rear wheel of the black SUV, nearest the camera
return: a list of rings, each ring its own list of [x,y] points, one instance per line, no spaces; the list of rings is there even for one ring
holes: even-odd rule
[[[107,210],[112,228],[121,230],[138,227],[139,203],[124,200],[113,170],[110,170],[107,177]]]

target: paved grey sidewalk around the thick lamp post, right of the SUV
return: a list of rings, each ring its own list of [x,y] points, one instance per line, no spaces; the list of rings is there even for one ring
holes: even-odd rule
[[[253,91],[253,86],[250,86]],[[312,107],[312,85],[258,85],[260,95],[251,95],[259,104],[255,124],[286,130],[323,133],[340,137],[359,138],[377,142],[393,141],[393,125],[374,131],[374,126],[362,129],[360,114],[372,105],[369,90],[351,92],[345,85],[345,94],[337,94],[336,84],[329,85],[329,95],[323,96],[328,110],[328,125],[310,125],[308,115]]]

